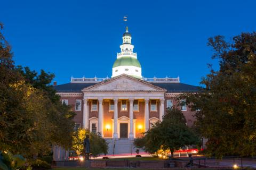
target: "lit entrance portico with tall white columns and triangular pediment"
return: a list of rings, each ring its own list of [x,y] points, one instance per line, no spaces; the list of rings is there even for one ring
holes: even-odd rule
[[[116,88],[113,90],[113,87]],[[165,90],[129,75],[119,75],[82,91],[83,127],[91,129],[90,118],[97,117],[97,132],[104,138],[122,138],[120,133],[125,123],[127,138],[140,137],[140,133],[149,129],[149,119],[153,117],[150,114],[159,120],[164,115],[161,108],[164,107]]]

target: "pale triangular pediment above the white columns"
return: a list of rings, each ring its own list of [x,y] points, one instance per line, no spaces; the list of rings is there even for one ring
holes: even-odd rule
[[[93,86],[84,88],[83,91],[165,91],[146,81],[131,77],[130,75],[122,74],[115,78],[102,81]]]

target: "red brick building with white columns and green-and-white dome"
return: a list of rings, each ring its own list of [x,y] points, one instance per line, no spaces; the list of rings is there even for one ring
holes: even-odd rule
[[[54,86],[62,103],[71,105],[77,114],[75,130],[100,132],[109,141],[110,153],[113,139],[122,145],[141,137],[151,123],[162,120],[167,107],[177,105],[173,99],[176,95],[197,91],[196,86],[181,83],[179,77],[143,78],[131,39],[126,27],[111,78],[72,77],[71,82]],[[180,109],[192,125],[193,112],[186,105]],[[122,152],[127,151],[118,153]]]

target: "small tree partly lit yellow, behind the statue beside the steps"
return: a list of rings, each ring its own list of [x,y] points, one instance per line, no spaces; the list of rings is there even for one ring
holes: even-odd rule
[[[108,143],[99,133],[90,132],[85,129],[78,129],[78,131],[73,134],[73,149],[76,151],[77,155],[81,155],[83,153],[83,142],[86,134],[89,134],[92,156],[98,156],[100,154],[106,155],[108,153]]]

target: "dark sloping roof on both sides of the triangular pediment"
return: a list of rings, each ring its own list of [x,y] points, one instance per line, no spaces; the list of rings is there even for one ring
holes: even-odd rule
[[[81,92],[83,88],[92,86],[97,83],[66,83],[66,84],[61,84],[58,86],[53,86],[57,92]],[[151,82],[154,86],[161,87],[163,89],[166,89],[167,92],[196,92],[198,91],[197,86],[191,86],[189,84],[184,84],[184,83],[171,83],[171,82]]]

